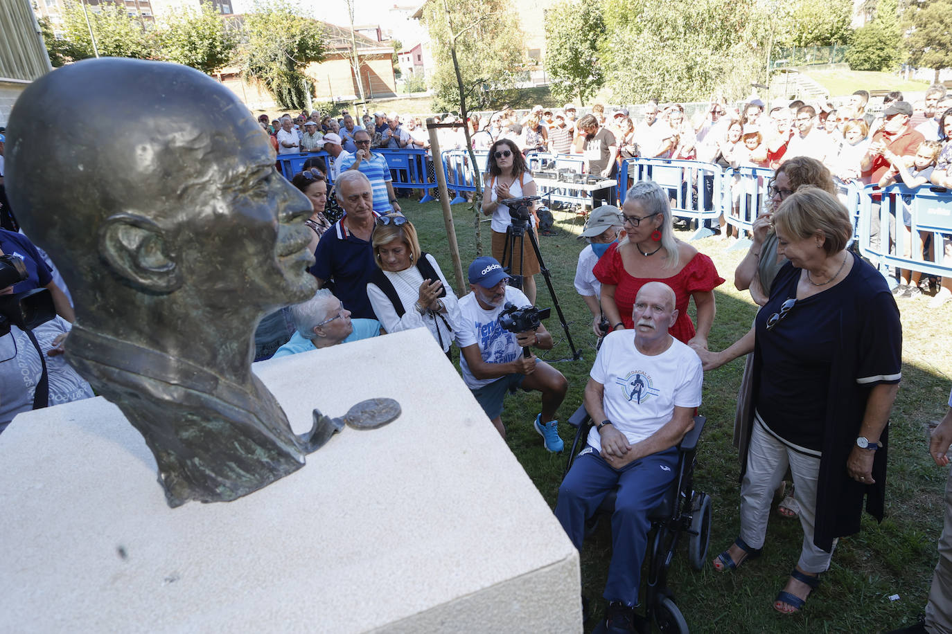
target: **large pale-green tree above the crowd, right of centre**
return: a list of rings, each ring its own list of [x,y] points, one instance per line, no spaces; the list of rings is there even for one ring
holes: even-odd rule
[[[758,0],[605,0],[606,84],[631,104],[745,95],[764,76],[770,17]]]

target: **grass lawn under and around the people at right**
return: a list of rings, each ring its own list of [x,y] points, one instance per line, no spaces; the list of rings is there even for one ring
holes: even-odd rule
[[[403,207],[419,231],[424,250],[434,254],[455,284],[439,203],[406,202]],[[473,216],[466,204],[452,209],[465,272],[475,257]],[[554,363],[570,386],[559,413],[565,420],[582,403],[588,370],[595,358],[595,337],[585,303],[572,287],[578,253],[584,246],[582,240],[576,240],[580,226],[578,222],[573,224],[569,214],[555,215],[558,235],[540,239],[543,257],[572,339],[584,351],[581,361]],[[481,226],[488,252],[488,223]],[[686,239],[687,234],[681,237]],[[728,251],[724,241],[716,238],[699,240],[695,245],[714,259],[721,276],[727,279],[716,290],[718,312],[710,336],[711,348],[721,350],[746,332],[755,314],[749,296],[733,287],[733,271],[743,251]],[[552,306],[542,276],[537,280],[538,305]],[[883,523],[878,525],[866,516],[861,533],[840,541],[833,565],[823,575],[823,584],[811,595],[803,613],[794,616],[776,613],[772,602],[799,557],[803,533],[798,521],[772,513],[764,557],[733,573],[720,574],[709,565],[694,572],[687,564],[686,548],[679,547],[669,584],[692,632],[883,632],[917,620],[938,559],[936,541],[942,529],[946,476],[946,470],[937,468],[929,458],[925,434],[928,422],[938,421],[945,412],[952,368],[952,354],[942,343],[948,340],[952,307],[946,304],[930,311],[925,308],[927,300],[900,300],[904,367],[889,436],[889,487]],[[543,353],[542,358],[570,357],[554,310],[545,326],[555,337],[556,347]],[[701,413],[707,416],[707,426],[699,446],[695,486],[713,498],[708,559],[726,548],[739,529],[739,465],[731,436],[742,372],[743,359],[738,359],[704,377]],[[516,394],[506,400],[503,421],[510,450],[554,508],[566,456],[543,449],[541,437],[531,426],[539,409],[538,394]],[[567,448],[571,428],[563,425],[560,432]],[[582,553],[585,596],[598,610],[602,609],[611,543],[610,528],[606,523],[602,526]],[[894,594],[899,600],[889,599]]]

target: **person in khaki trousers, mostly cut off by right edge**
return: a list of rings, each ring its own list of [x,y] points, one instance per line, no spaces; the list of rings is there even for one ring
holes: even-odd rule
[[[952,446],[952,394],[949,411],[932,431],[929,455],[936,465],[948,470],[949,447]],[[932,574],[929,599],[925,604],[925,618],[918,624],[895,629],[888,634],[948,634],[952,632],[952,471],[945,478],[945,519],[939,537],[939,563]]]

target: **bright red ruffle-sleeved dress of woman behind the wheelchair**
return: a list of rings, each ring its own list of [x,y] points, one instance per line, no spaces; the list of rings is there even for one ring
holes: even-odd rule
[[[724,278],[717,274],[714,262],[703,253],[695,254],[684,268],[670,278],[632,278],[625,271],[622,256],[618,253],[618,244],[612,244],[605,251],[605,255],[598,260],[592,273],[603,284],[615,285],[615,304],[622,316],[625,328],[634,328],[631,320],[631,309],[635,305],[635,296],[649,281],[663,281],[674,291],[675,308],[678,309],[678,318],[668,331],[671,336],[687,343],[695,334],[694,323],[687,315],[687,304],[692,293],[698,291],[713,291],[724,283]]]

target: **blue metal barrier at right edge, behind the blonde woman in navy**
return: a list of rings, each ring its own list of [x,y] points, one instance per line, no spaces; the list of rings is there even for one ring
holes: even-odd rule
[[[882,200],[876,201],[877,197]],[[875,214],[879,215],[880,231],[874,237]],[[894,231],[889,230],[890,224],[895,226]],[[880,190],[875,184],[866,185],[860,192],[858,234],[860,253],[887,279],[891,278],[888,266],[952,276],[952,192],[948,190],[927,186],[908,189],[901,184]],[[923,238],[931,238],[925,254],[930,259],[923,258]]]

